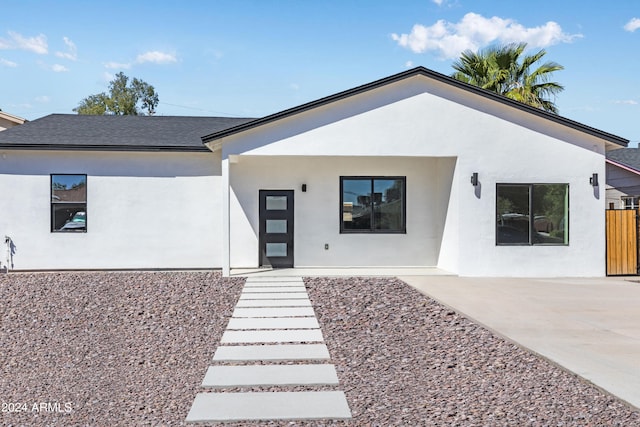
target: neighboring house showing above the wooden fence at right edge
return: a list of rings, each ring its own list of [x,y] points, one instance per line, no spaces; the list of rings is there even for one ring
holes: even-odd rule
[[[640,149],[607,152],[606,205],[608,209],[640,207]]]

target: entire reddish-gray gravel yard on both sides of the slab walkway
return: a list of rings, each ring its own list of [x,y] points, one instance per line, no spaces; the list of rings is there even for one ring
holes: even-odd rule
[[[399,280],[305,283],[354,418],[268,425],[640,425],[639,411]],[[242,284],[0,275],[0,424],[183,425]]]

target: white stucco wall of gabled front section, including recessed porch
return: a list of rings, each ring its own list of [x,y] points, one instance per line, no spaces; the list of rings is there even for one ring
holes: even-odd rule
[[[605,274],[604,188],[589,185],[592,173],[605,176],[604,142],[429,79],[408,79],[229,137],[223,158],[239,159],[231,164],[232,266],[257,263],[257,189],[298,190],[309,180],[310,192],[297,194],[296,209],[298,200],[314,194],[309,206],[315,208],[306,209],[327,205],[330,215],[308,229],[296,223],[296,265],[356,266],[368,260],[366,265],[385,266],[435,262],[464,276]],[[438,208],[446,218],[435,222],[440,230],[429,229],[437,216],[430,212],[421,224],[408,220],[407,235],[393,245],[391,236],[338,234],[340,175],[406,174],[409,186],[409,177],[418,174],[433,183],[446,176],[429,175],[443,159],[456,159],[455,167],[444,168],[453,172],[452,183],[407,195],[414,219],[425,203],[446,201],[447,209]],[[469,182],[473,172],[479,173],[478,188]],[[569,245],[496,246],[497,183],[568,184]],[[438,192],[445,187],[449,194]],[[307,214],[297,212],[296,218]],[[443,236],[441,242],[434,243],[434,236]],[[335,250],[323,252],[325,242]]]

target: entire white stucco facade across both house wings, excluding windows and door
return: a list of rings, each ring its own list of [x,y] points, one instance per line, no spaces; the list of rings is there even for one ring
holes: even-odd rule
[[[0,147],[10,267],[257,268],[260,191],[291,190],[295,267],[605,275],[604,153],[624,140],[426,71],[381,82],[224,127],[210,152]],[[87,176],[86,232],[51,231],[52,174]],[[341,232],[341,177],[400,177],[406,230]],[[501,184],[568,188],[568,244],[498,245]]]

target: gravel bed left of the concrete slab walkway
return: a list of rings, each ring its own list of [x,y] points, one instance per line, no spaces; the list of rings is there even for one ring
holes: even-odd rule
[[[0,424],[183,424],[243,282],[202,272],[0,275],[0,400],[26,404]]]

